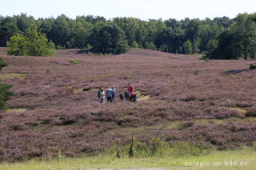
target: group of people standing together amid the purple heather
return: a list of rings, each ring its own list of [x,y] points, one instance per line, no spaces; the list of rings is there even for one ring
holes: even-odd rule
[[[98,100],[100,103],[105,103],[105,100],[108,102],[113,102],[114,98],[116,96],[116,90],[114,89],[114,86],[110,88],[110,86],[104,90],[102,88],[98,89]],[[124,91],[124,93],[120,92],[120,100],[123,102],[126,101],[137,101],[136,94],[134,93],[134,87],[132,85],[128,85],[128,89]]]

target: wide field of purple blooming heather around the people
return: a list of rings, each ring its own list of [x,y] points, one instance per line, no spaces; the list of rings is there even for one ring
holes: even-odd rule
[[[256,70],[243,60],[130,49],[89,56],[60,49],[55,57],[7,56],[2,81],[14,85],[0,113],[0,161],[96,154],[113,144],[151,140],[203,141],[226,149],[256,141]],[[70,60],[81,61],[72,64]],[[48,70],[48,71],[47,71]],[[98,87],[117,95],[134,86],[138,102],[98,102]]]

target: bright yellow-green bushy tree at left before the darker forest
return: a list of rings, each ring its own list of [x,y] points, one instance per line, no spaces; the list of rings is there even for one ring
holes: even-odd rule
[[[7,42],[10,55],[53,56],[55,45],[48,42],[46,34],[38,33],[37,26],[33,25],[26,32],[26,36],[16,34]]]

